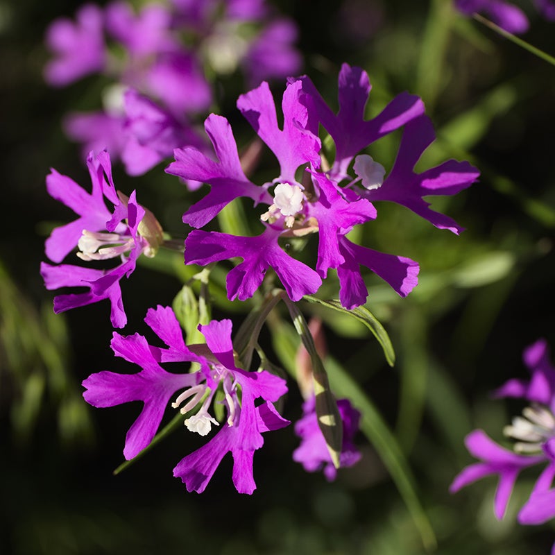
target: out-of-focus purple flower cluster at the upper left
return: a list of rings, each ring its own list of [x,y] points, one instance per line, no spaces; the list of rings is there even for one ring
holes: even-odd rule
[[[49,27],[54,58],[44,76],[57,87],[98,73],[114,80],[103,110],[71,114],[65,130],[85,153],[107,148],[135,176],[177,146],[202,148],[191,118],[213,101],[207,67],[229,73],[240,66],[253,84],[284,78],[300,69],[295,40],[294,24],[264,0],[174,0],[138,12],[122,0],[87,4],[75,21]]]

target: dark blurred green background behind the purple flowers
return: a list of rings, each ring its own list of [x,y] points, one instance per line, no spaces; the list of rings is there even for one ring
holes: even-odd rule
[[[112,355],[105,303],[55,316],[53,294],[39,274],[44,239],[72,216],[46,194],[46,174],[53,167],[89,186],[80,147],[65,137],[61,121],[70,110],[94,108],[98,79],[53,89],[42,77],[47,26],[73,17],[82,3],[0,0],[0,552],[549,553],[552,525],[515,524],[533,472],[518,481],[502,522],[493,516],[495,479],[456,495],[447,488],[471,461],[464,436],[481,427],[499,441],[522,409],[491,400],[490,391],[527,376],[521,360],[527,345],[540,337],[555,345],[555,67],[456,15],[448,1],[273,4],[298,25],[302,71],[330,105],[336,107],[341,63],[359,65],[373,83],[369,114],[404,90],[422,96],[438,135],[422,168],[455,157],[481,169],[468,191],[434,200],[467,228],[461,237],[401,207],[384,207],[364,230],[361,240],[421,266],[420,284],[404,300],[368,282],[367,307],[391,336],[394,368],[366,328],[319,313],[330,355],[364,389],[407,458],[436,547],[429,534],[422,542],[414,511],[362,434],[362,461],[333,483],[291,460],[298,445],[292,426],[271,434],[256,453],[252,496],[234,490],[230,456],[205,493],[187,493],[171,470],[201,442],[180,432],[112,475],[139,407],[92,409],[80,382],[100,370],[134,370]],[[555,54],[555,24],[530,3],[522,7],[531,20],[524,38]],[[230,77],[219,87],[219,110],[237,121],[238,142],[246,137],[245,144],[252,130],[234,110],[243,82]],[[284,83],[273,85],[275,94],[283,89]],[[395,152],[386,141],[376,148],[385,160]],[[114,180],[123,190],[141,189],[142,202],[171,230],[182,207],[168,207],[179,185],[164,167],[129,178],[118,166]],[[144,333],[146,309],[171,303],[181,286],[177,272],[154,269],[139,268],[140,280],[124,284],[130,333]],[[294,386],[283,413],[300,417]]]

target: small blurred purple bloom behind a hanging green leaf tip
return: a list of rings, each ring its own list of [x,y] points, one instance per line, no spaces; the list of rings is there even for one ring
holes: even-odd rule
[[[343,446],[339,462],[341,468],[345,468],[353,466],[361,458],[359,450],[353,443],[353,438],[359,431],[361,415],[347,399],[338,400],[337,408],[343,421]],[[293,452],[293,461],[301,463],[307,472],[323,470],[327,480],[332,481],[336,478],[337,470],[332,463],[332,456],[318,426],[314,395],[302,404],[302,413],[302,418],[295,425],[295,433],[300,437],[301,443]]]

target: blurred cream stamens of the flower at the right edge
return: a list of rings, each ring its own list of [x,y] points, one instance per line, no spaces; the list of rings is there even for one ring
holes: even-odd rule
[[[543,443],[555,436],[555,416],[547,407],[533,404],[522,411],[522,416],[515,416],[503,434],[519,440],[513,445],[515,452],[539,452]]]

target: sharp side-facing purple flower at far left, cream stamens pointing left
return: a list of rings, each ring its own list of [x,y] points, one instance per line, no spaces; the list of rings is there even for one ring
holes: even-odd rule
[[[88,194],[74,180],[52,170],[46,178],[49,194],[69,206],[78,219],[56,228],[46,239],[46,256],[53,262],[63,259],[78,247],[78,257],[85,261],[119,258],[112,269],[97,270],[71,264],[41,264],[41,275],[46,289],[85,287],[85,293],[58,295],[54,298],[56,314],[72,308],[109,299],[112,325],[127,323],[119,281],[135,270],[137,258],[144,254],[153,257],[162,243],[162,228],[153,214],[137,203],[135,191],[129,196],[116,191],[112,180],[110,156],[103,151],[87,159],[92,181]],[[105,205],[107,199],[113,211]]]

